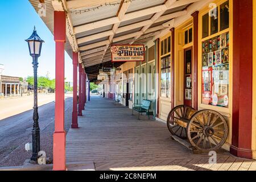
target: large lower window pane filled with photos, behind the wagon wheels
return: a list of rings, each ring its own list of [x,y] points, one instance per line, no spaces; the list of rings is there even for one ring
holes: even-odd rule
[[[228,107],[229,32],[202,43],[202,104]]]

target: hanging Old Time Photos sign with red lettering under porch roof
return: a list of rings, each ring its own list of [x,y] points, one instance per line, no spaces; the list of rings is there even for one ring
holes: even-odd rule
[[[144,61],[144,45],[113,45],[111,47],[112,62]]]

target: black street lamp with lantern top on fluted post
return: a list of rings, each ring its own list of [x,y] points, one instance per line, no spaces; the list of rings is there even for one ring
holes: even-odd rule
[[[33,68],[34,68],[34,113],[33,113],[33,127],[32,127],[32,157],[30,163],[37,163],[38,152],[40,151],[40,128],[38,123],[38,57],[41,55],[42,44],[44,41],[36,34],[36,29],[34,27],[34,32],[26,40],[28,43],[28,48],[30,50],[30,56],[33,58]]]

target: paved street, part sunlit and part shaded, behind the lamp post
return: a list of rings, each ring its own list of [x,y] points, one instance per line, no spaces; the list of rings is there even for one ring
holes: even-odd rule
[[[52,158],[54,132],[54,94],[39,94],[40,146]],[[0,100],[0,166],[20,166],[32,152],[24,149],[31,142],[33,97]],[[71,126],[72,95],[65,96],[65,130]]]

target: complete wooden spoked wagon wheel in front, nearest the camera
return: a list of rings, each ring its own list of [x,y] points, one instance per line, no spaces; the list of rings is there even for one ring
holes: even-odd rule
[[[217,150],[228,137],[228,125],[220,113],[201,110],[192,115],[187,126],[187,137],[197,150]]]

